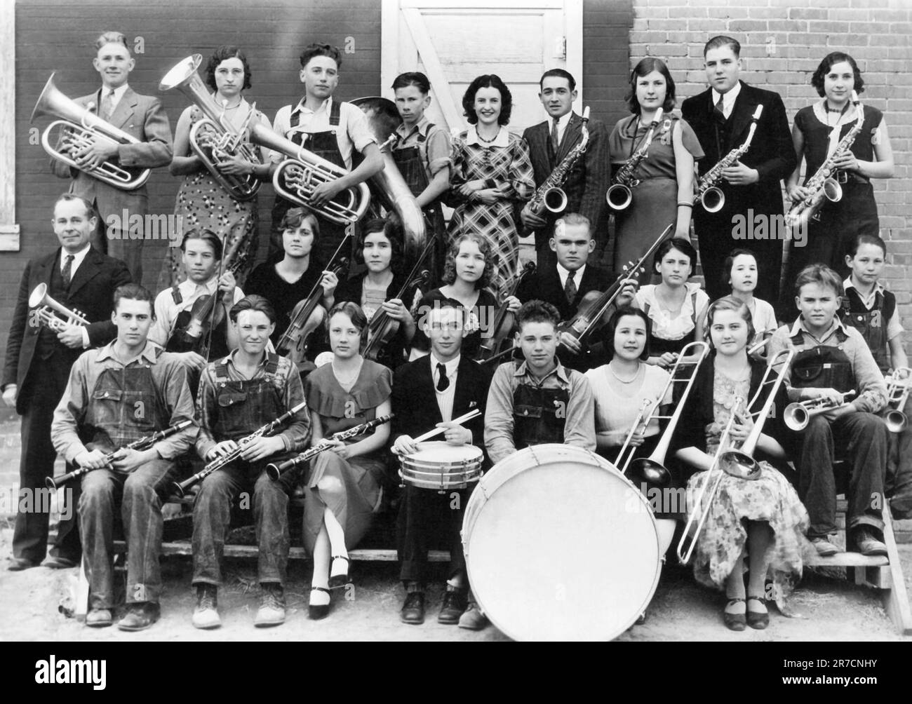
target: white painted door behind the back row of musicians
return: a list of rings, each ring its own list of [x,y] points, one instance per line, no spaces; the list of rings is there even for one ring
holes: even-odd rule
[[[467,127],[462,94],[482,74],[497,74],[510,88],[517,133],[547,117],[538,80],[549,68],[574,75],[582,111],[582,0],[383,0],[382,25],[382,94],[393,98],[400,73],[423,72],[428,118],[451,132]]]

